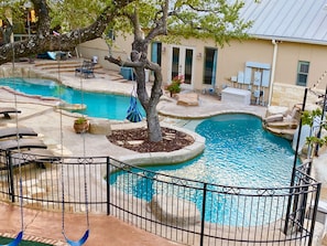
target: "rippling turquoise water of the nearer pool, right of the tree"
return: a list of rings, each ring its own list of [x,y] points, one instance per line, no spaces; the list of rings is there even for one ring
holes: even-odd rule
[[[290,185],[294,161],[291,143],[264,131],[258,117],[246,114],[219,115],[201,121],[196,127],[196,132],[206,138],[206,148],[203,154],[176,165],[146,167],[144,169],[163,174],[160,175],[160,179],[167,182],[173,181],[173,178],[164,175],[230,186],[282,188]],[[146,175],[155,174],[148,173]],[[161,190],[162,183],[146,180],[141,175],[131,175],[127,172],[112,174],[111,183],[127,188],[124,192],[148,202],[151,201],[153,194],[163,192]],[[168,192],[170,189],[173,188],[166,188],[164,192]],[[190,192],[187,196],[201,211],[201,191]],[[240,211],[237,206],[237,203],[241,204],[242,202],[244,207],[251,205],[247,204],[251,202],[250,200],[248,202],[242,200],[236,202],[224,199],[221,195],[209,194],[207,204],[214,205],[210,205],[211,208],[207,211],[205,220],[218,224],[228,222],[232,225],[240,225],[239,223],[241,225],[253,225],[253,223],[269,222],[269,217],[264,215],[261,216],[260,222],[251,221],[250,215],[244,215],[246,212]],[[279,206],[282,206],[281,202],[273,199],[265,201],[265,203],[259,204],[255,210],[260,211],[263,210],[263,206],[271,206],[272,213],[277,213],[273,206],[276,206],[277,203]],[[241,222],[238,221],[240,214],[243,217]]]

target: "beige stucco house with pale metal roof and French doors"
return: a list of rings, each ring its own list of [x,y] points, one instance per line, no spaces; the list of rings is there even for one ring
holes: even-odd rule
[[[215,92],[235,87],[251,93],[251,103],[293,107],[303,100],[304,88],[325,92],[327,84],[327,1],[244,0],[240,17],[252,20],[251,39],[219,47],[212,40],[182,40],[179,44],[153,42],[149,56],[162,66],[164,83],[184,75],[184,89]],[[128,58],[132,36],[116,33],[112,54]],[[103,52],[80,45],[81,53]],[[100,51],[101,45],[96,45]],[[118,69],[119,67],[110,67]],[[150,76],[151,79],[151,76]],[[315,101],[315,95],[308,100]]]

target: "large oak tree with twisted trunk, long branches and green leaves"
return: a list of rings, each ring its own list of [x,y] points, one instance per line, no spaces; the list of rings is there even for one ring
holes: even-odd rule
[[[6,3],[12,0],[3,0]],[[23,2],[23,1],[22,1]],[[19,6],[22,6],[22,2]],[[178,38],[214,39],[220,46],[232,39],[246,38],[251,23],[239,18],[239,0],[31,0],[37,17],[36,35],[0,47],[0,64],[46,51],[69,51],[80,42],[102,36],[107,29],[133,35],[130,61],[106,56],[111,63],[133,67],[138,97],[146,113],[150,141],[162,140],[156,106],[162,96],[162,72],[148,57],[154,40],[176,42]],[[19,7],[15,7],[19,8]],[[2,8],[4,9],[4,8]],[[14,10],[13,10],[14,12]],[[1,14],[1,12],[0,12]],[[2,14],[3,17],[3,14]],[[59,25],[63,34],[54,36]],[[145,34],[144,34],[145,33]],[[151,94],[145,89],[145,69],[153,71]]]

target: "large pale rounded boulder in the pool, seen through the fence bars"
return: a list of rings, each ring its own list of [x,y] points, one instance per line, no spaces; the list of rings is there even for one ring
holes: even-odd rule
[[[148,204],[152,214],[162,223],[189,226],[200,223],[200,212],[195,203],[166,195],[153,195]]]

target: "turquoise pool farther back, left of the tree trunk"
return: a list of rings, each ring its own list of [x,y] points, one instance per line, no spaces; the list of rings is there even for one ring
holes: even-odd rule
[[[78,113],[90,117],[112,120],[123,120],[130,104],[130,97],[128,96],[81,92],[67,86],[59,86],[50,79],[0,78],[0,86],[9,86],[28,95],[57,97],[68,104],[85,104],[86,109],[78,110]],[[142,115],[145,116],[141,104],[139,104],[139,108]]]

